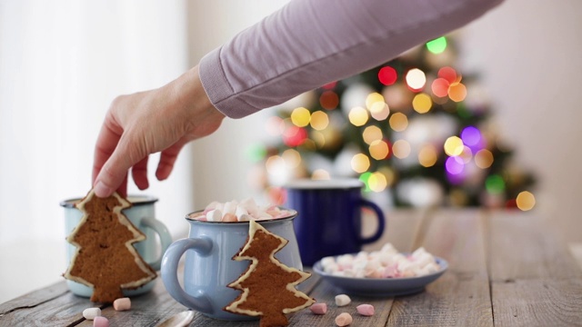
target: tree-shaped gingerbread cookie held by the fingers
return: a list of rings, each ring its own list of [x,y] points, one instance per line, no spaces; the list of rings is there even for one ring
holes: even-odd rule
[[[156,271],[133,246],[146,235],[121,212],[130,206],[117,193],[99,198],[93,190],[76,203],[83,218],[66,238],[76,251],[64,276],[93,287],[93,302],[114,302],[124,297],[122,289],[135,289],[156,278]]]

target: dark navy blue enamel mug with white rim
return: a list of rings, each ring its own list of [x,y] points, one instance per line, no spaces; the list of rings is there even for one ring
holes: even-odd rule
[[[287,183],[286,203],[298,213],[294,220],[301,261],[313,265],[319,259],[357,253],[362,245],[376,242],[385,229],[385,216],[362,197],[364,183],[357,179],[307,180]],[[376,213],[377,230],[362,236],[362,209]]]

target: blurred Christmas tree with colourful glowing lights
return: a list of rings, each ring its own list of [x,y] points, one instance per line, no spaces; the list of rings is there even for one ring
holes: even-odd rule
[[[267,128],[268,186],[298,177],[358,177],[396,206],[529,210],[531,173],[497,137],[487,93],[455,68],[440,37],[278,107]]]

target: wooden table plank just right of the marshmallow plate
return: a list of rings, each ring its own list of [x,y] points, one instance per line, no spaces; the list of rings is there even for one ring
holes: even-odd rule
[[[425,292],[397,297],[390,326],[492,326],[483,215],[439,211],[426,219],[416,246],[449,267]]]

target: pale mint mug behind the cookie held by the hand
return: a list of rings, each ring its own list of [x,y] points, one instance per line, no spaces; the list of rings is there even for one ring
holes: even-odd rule
[[[75,207],[82,199],[70,199],[61,202],[65,208],[65,233],[68,236],[73,232],[75,227],[81,222],[83,213]],[[125,209],[123,213],[131,223],[135,225],[142,233],[146,234],[146,240],[134,243],[135,250],[141,257],[155,270],[160,269],[162,255],[172,243],[172,236],[168,232],[166,225],[156,220],[155,203],[157,199],[151,196],[129,196],[127,200],[132,206]],[[157,237],[156,237],[157,235]],[[156,239],[159,238],[159,243]],[[66,243],[67,263],[71,262],[75,255],[76,247],[71,243]],[[90,297],[93,294],[93,288],[80,282],[66,280],[66,284],[71,292],[76,295]],[[150,292],[156,285],[156,280],[146,283],[146,285],[135,290],[124,290],[125,296],[134,296]]]

